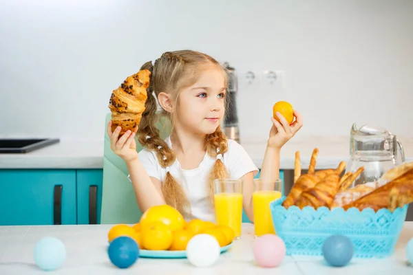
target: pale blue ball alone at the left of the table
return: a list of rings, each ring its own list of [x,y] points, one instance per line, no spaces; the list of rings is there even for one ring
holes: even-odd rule
[[[34,247],[34,262],[41,270],[57,270],[66,260],[64,243],[52,236],[40,239]]]

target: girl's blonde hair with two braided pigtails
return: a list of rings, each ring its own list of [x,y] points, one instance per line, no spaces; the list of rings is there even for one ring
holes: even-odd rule
[[[156,98],[160,92],[171,94],[175,102],[178,102],[179,91],[184,87],[189,87],[195,83],[200,76],[203,69],[215,66],[222,70],[225,80],[225,87],[227,85],[227,75],[225,69],[211,56],[195,52],[191,50],[182,50],[176,52],[165,52],[156,59],[152,65],[151,61],[142,65],[140,69],[148,69],[151,72],[151,80],[148,87],[148,98],[145,103],[145,112],[142,114],[142,119],[138,129],[138,141],[142,146],[146,146],[152,151],[156,152],[160,166],[166,168],[171,166],[176,160],[176,155],[167,145],[165,140],[159,135],[156,128],[156,122],[160,116],[165,115],[169,118],[171,126],[173,127],[174,116],[162,110],[159,115],[156,113],[157,104],[155,98],[152,96],[154,92]],[[149,136],[149,138],[147,138]],[[220,126],[205,137],[205,149],[211,157],[217,157],[219,154],[224,155],[228,150],[227,140],[222,133]],[[215,164],[211,170],[209,178],[209,199],[213,207],[213,181],[215,179],[223,179],[227,177],[226,167],[220,158],[217,157]],[[176,208],[185,217],[191,217],[191,208],[189,200],[182,189],[182,186],[171,175],[169,170],[162,184],[162,193],[165,197],[165,202],[170,206]]]

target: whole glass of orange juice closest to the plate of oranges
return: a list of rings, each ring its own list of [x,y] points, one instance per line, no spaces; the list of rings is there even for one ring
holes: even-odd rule
[[[235,239],[240,239],[242,225],[242,180],[215,179],[215,219],[218,225],[234,230]]]

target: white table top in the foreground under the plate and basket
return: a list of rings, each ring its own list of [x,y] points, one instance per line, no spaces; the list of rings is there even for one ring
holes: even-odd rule
[[[240,240],[221,254],[212,267],[193,267],[187,259],[140,258],[127,270],[120,270],[107,256],[107,232],[112,225],[0,226],[0,274],[47,274],[34,264],[36,241],[55,236],[66,245],[67,258],[61,269],[50,274],[413,274],[407,265],[405,247],[413,238],[413,222],[405,222],[394,255],[385,259],[352,259],[335,268],[319,256],[286,256],[275,268],[262,268],[253,259],[253,225],[244,223]]]

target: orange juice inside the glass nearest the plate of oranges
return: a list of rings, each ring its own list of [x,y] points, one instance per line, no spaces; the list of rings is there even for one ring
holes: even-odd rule
[[[242,194],[218,193],[214,195],[215,218],[218,225],[227,225],[235,232],[235,238],[241,236]]]

